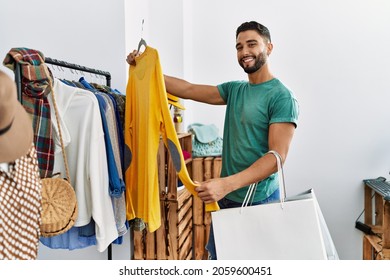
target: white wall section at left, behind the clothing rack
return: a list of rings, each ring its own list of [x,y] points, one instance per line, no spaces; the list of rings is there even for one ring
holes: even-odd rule
[[[0,0],[0,69],[11,48],[26,47],[45,56],[108,71],[112,87],[124,92],[126,50],[123,0]],[[58,75],[72,75],[68,70]],[[92,77],[85,76],[88,81]],[[96,81],[96,80],[95,80]],[[104,80],[103,80],[104,81]],[[39,247],[39,259],[107,259],[96,246],[80,250]],[[122,245],[112,245],[113,259],[130,259],[130,234]]]

